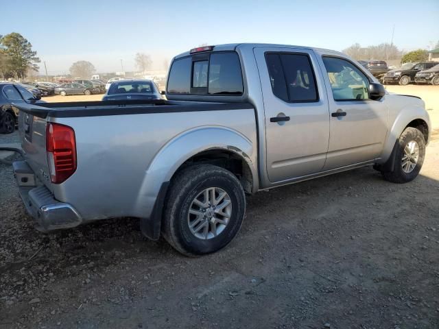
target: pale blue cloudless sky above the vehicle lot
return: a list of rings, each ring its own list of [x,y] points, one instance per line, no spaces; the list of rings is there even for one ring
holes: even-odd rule
[[[390,42],[406,51],[436,45],[439,0],[423,1],[1,1],[0,34],[29,40],[49,74],[77,60],[98,72],[155,69],[202,43],[271,42],[342,50]],[[43,62],[40,65],[43,72]]]

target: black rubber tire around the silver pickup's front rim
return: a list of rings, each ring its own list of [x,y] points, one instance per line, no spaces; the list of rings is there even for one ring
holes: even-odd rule
[[[405,155],[405,147],[408,143],[411,141],[416,141],[418,143],[419,147],[419,155],[418,160],[416,162],[416,167],[410,172],[407,173],[403,170],[403,156]],[[416,178],[418,175],[421,167],[423,167],[425,158],[425,139],[424,135],[420,130],[413,128],[413,127],[407,127],[399,136],[398,141],[396,141],[396,145],[392,151],[392,155],[390,156],[390,160],[394,160],[394,166],[392,171],[382,171],[383,177],[385,180],[388,180],[390,182],[394,183],[407,183],[411,182]],[[386,166],[383,166],[386,167]]]

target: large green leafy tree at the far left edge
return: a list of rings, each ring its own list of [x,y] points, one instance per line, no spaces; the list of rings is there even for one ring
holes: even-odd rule
[[[6,67],[14,77],[23,78],[29,69],[40,69],[36,64],[40,62],[40,58],[36,56],[36,51],[32,50],[32,44],[21,34],[12,32],[2,36],[0,45],[3,52],[2,72],[3,67]]]

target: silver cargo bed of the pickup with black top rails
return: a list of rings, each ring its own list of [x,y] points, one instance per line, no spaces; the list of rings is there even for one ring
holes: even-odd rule
[[[37,209],[45,204],[32,188],[38,188],[38,195],[40,190],[52,195],[60,202],[57,209],[75,214],[72,226],[112,217],[149,217],[163,182],[205,149],[241,149],[248,161],[257,161],[250,103],[91,101],[16,107],[21,111],[23,173],[35,176],[35,185],[25,186],[24,192]],[[50,179],[48,123],[74,130],[77,167],[60,184]],[[42,226],[52,228],[47,221]]]

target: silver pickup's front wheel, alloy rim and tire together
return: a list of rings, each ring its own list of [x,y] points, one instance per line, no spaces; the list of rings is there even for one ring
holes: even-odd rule
[[[394,183],[406,183],[414,180],[425,157],[423,133],[414,127],[407,127],[396,141],[391,158],[394,157],[392,171],[383,171],[386,180]]]

